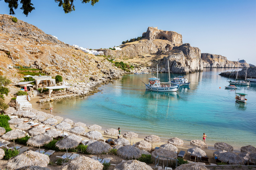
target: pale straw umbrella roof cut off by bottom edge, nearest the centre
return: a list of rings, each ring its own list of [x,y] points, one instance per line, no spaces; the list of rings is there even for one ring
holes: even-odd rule
[[[153,170],[144,162],[138,160],[128,160],[117,164],[114,170]]]

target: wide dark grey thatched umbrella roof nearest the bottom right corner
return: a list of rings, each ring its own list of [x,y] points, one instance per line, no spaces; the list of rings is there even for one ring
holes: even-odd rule
[[[243,158],[238,156],[237,154],[235,154],[233,152],[219,153],[217,155],[217,158],[220,161],[226,162],[226,163],[229,163],[229,164],[238,164],[238,165],[243,165],[244,164]]]

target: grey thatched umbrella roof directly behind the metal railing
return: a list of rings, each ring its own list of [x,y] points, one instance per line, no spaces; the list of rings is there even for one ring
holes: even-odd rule
[[[177,159],[177,153],[167,150],[167,149],[156,149],[154,150],[152,153],[152,159],[155,160],[155,158],[159,155],[159,156],[164,156],[167,158],[172,158],[172,159]],[[164,157],[159,157],[159,162],[163,163],[164,161],[167,161],[167,158]],[[172,159],[168,159],[168,162],[173,162],[174,160]]]

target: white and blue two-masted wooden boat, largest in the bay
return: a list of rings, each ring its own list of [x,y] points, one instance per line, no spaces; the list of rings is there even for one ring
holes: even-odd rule
[[[169,80],[170,80],[169,62],[168,62],[168,71],[169,71]],[[180,87],[180,85],[171,85],[171,81],[169,81],[168,83],[164,83],[168,85],[161,85],[160,79],[158,78],[158,65],[157,65],[157,77],[150,77],[148,84],[146,84],[142,79],[141,81],[145,84],[146,89],[151,91],[176,92]]]

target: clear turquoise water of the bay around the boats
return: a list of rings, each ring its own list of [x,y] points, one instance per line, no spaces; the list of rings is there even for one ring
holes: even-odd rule
[[[140,81],[152,74],[124,75],[104,85],[92,96],[41,104],[53,107],[54,115],[86,125],[121,128],[122,134],[133,131],[139,136],[158,135],[162,140],[179,137],[185,142],[202,140],[226,142],[236,148],[256,146],[256,84],[227,90],[227,78],[218,75],[232,69],[204,69],[187,74],[191,84],[177,93],[151,92]],[[174,74],[179,76],[178,74]],[[173,77],[173,75],[172,75]],[[160,73],[161,82],[168,74]],[[221,88],[219,88],[221,87]],[[247,103],[236,103],[235,92],[246,93]]]

